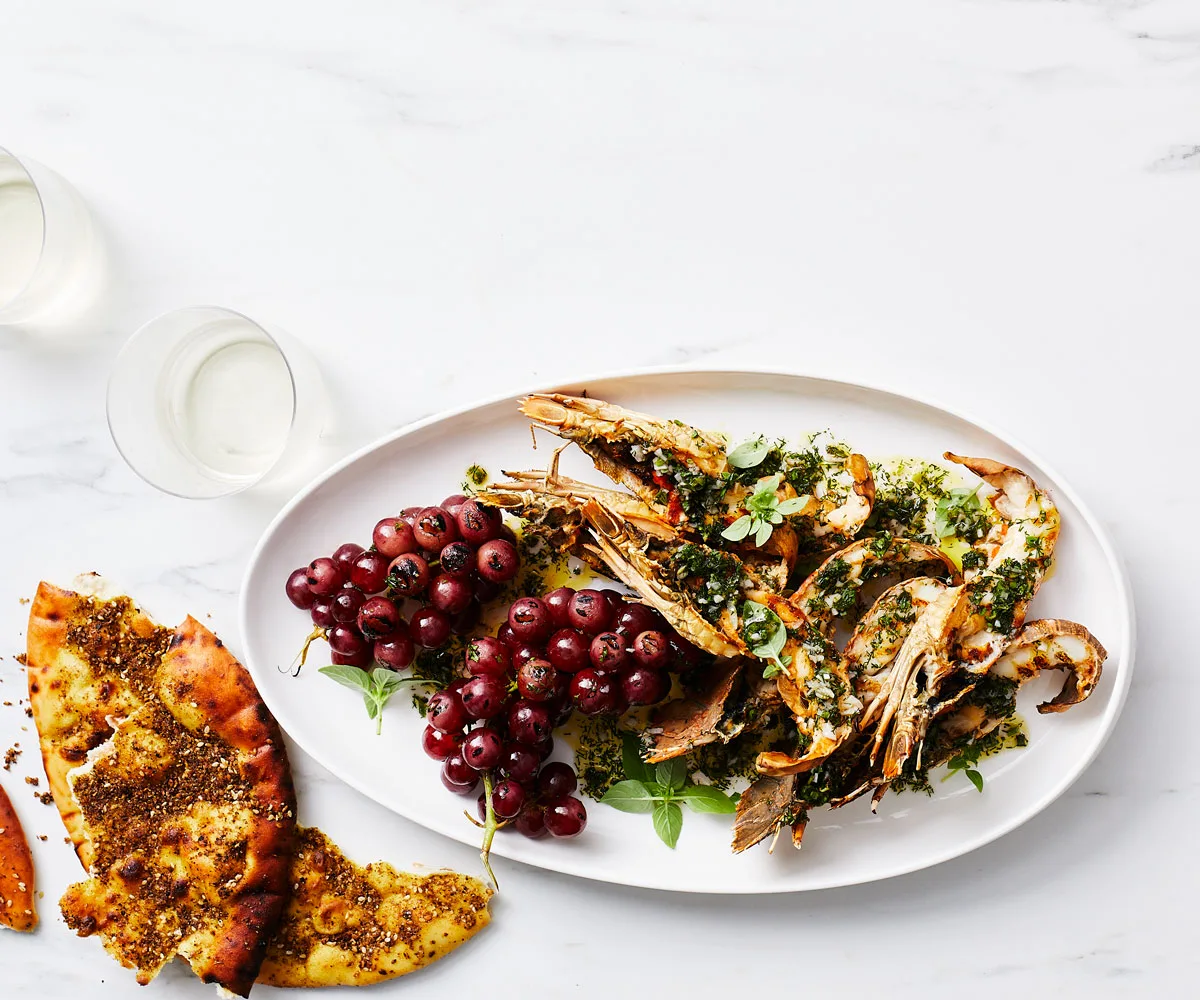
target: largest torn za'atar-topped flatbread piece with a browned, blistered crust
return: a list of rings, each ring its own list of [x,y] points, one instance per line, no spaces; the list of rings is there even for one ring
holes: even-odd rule
[[[140,983],[178,954],[247,995],[283,911],[295,830],[283,738],[250,675],[194,618],[170,633],[127,598],[47,585],[26,658],[52,794],[91,876],[62,897],[67,926],[100,934]],[[124,718],[101,721],[118,702]]]

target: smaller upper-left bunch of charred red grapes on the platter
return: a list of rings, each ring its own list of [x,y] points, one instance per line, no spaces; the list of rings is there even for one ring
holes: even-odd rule
[[[288,576],[288,599],[326,630],[336,664],[403,670],[416,646],[468,634],[521,568],[500,511],[462,495],[384,517],[371,540],[370,549],[347,541]],[[420,605],[407,622],[406,600]]]

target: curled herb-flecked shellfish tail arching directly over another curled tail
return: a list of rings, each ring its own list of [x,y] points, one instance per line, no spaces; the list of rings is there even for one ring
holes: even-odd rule
[[[856,609],[858,592],[865,582],[910,565],[936,568],[950,580],[959,579],[958,567],[941,549],[882,534],[839,549],[809,574],[791,603],[828,633],[834,618]]]

